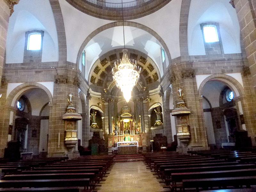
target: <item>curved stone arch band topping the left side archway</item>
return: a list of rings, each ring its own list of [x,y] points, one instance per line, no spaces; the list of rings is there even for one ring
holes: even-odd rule
[[[23,83],[23,84],[15,87],[12,90],[12,92],[10,92],[10,94],[8,95],[8,97],[6,99],[6,105],[10,106],[10,107],[14,107],[15,103],[21,97],[21,95],[24,93],[24,91],[27,91],[32,88],[43,89],[49,97],[50,104],[52,104],[52,94],[49,91],[49,89],[47,89],[47,87],[45,87],[44,85],[39,84],[39,83],[29,82],[29,83]]]

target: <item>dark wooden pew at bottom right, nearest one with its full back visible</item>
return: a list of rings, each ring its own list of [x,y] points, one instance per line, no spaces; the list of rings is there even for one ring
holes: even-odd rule
[[[250,187],[256,183],[256,176],[245,176],[245,177],[227,177],[227,178],[206,178],[206,179],[184,179],[182,180],[183,191],[186,188],[208,188],[208,187],[227,187],[227,186],[247,186]],[[220,190],[217,190],[220,192]],[[233,189],[230,190],[233,192]],[[242,192],[242,189],[238,190]],[[252,191],[255,191],[253,189]],[[209,192],[209,191],[207,191]]]

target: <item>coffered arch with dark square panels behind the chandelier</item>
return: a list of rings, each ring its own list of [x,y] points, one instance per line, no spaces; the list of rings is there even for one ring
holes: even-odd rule
[[[147,87],[149,90],[155,89],[160,84],[160,72],[155,62],[146,54],[135,49],[128,49],[127,53],[130,60],[137,60],[137,66],[141,67],[140,86]],[[94,62],[88,76],[92,89],[108,89],[113,84],[112,68],[115,61],[122,59],[122,55],[122,49],[114,49],[103,54]]]

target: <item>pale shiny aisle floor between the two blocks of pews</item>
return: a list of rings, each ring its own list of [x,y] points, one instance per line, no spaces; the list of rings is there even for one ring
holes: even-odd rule
[[[115,163],[98,192],[127,191],[162,192],[170,189],[163,188],[163,183],[158,182],[142,161]]]

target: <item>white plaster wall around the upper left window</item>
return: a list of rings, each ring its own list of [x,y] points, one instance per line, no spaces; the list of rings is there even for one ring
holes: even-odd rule
[[[9,20],[6,63],[23,62],[25,32],[30,30],[44,31],[42,62],[58,61],[58,36],[50,2],[22,0],[14,6]]]

